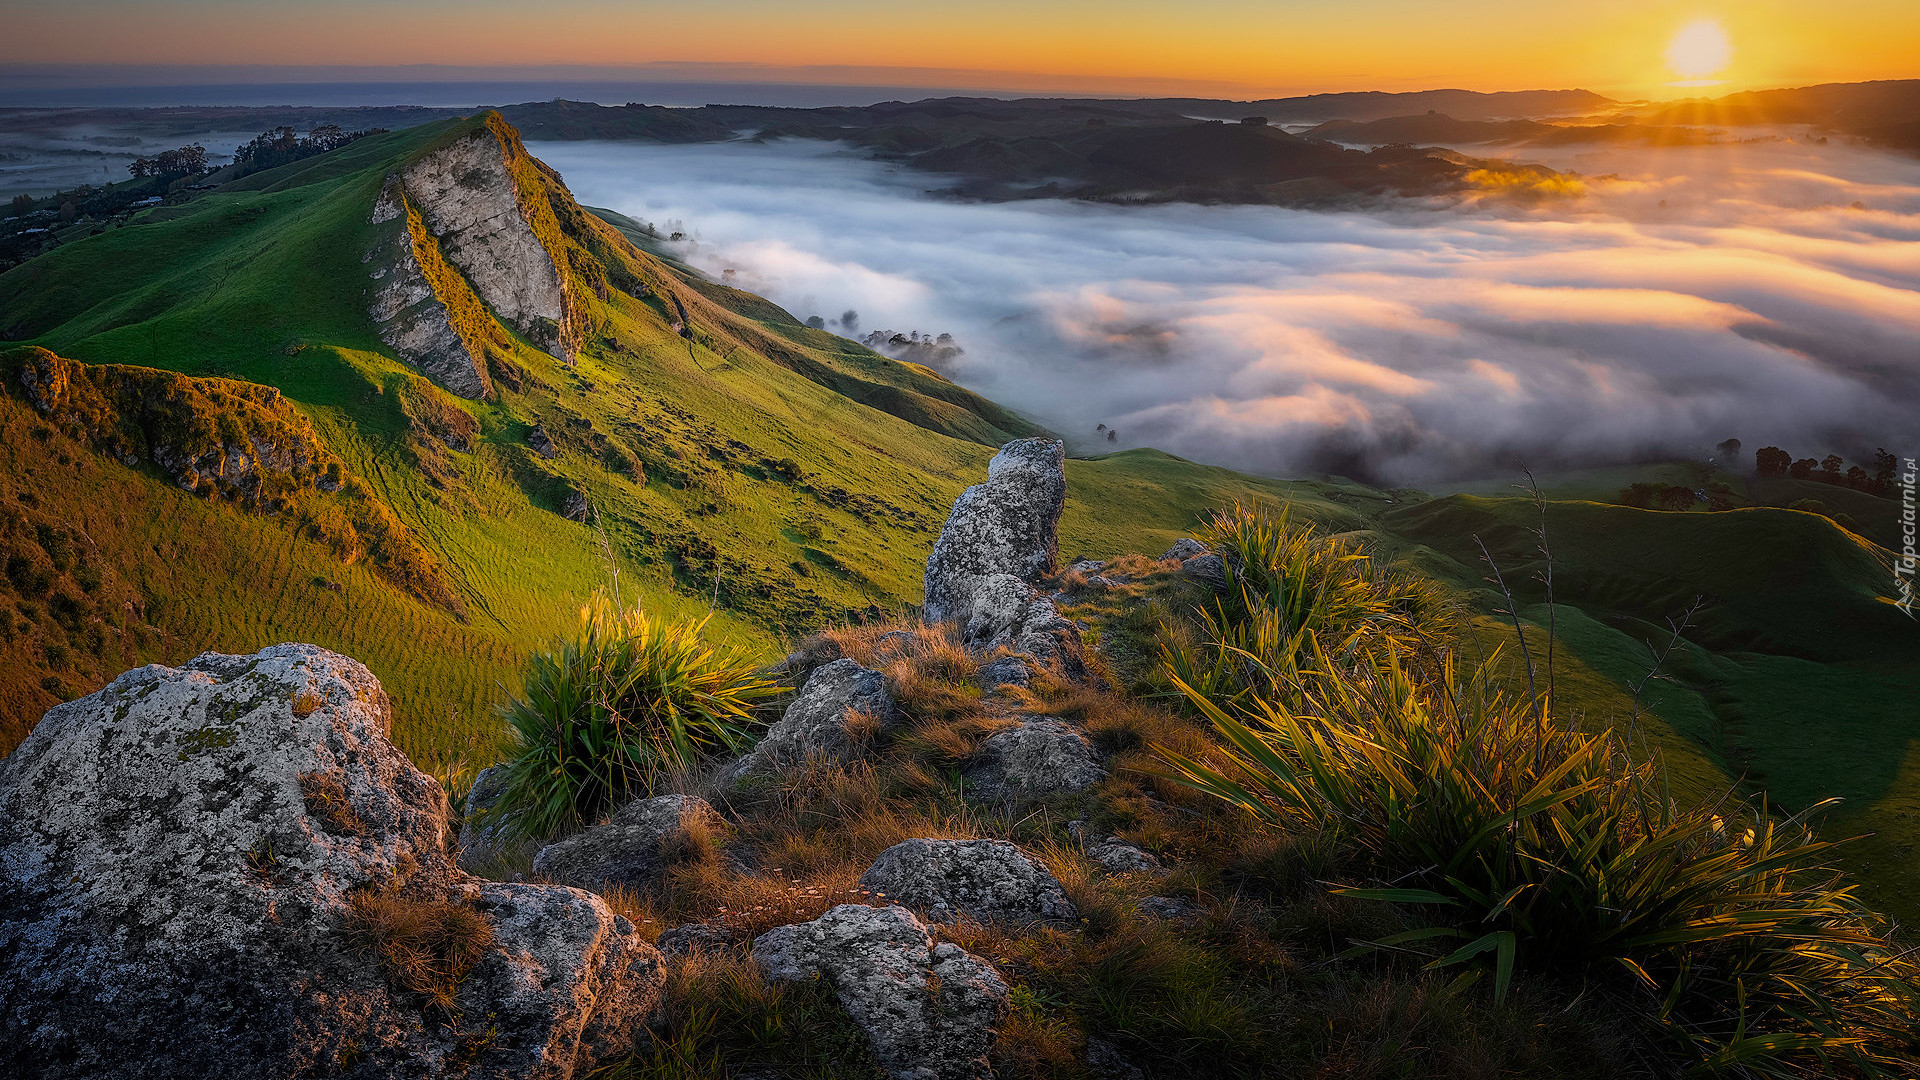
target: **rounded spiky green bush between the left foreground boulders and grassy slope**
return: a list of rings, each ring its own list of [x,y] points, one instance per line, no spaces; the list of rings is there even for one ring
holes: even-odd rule
[[[591,824],[670,771],[749,746],[753,707],[780,688],[705,628],[595,598],[574,638],[528,663],[505,707],[516,749],[493,807],[509,834]]]

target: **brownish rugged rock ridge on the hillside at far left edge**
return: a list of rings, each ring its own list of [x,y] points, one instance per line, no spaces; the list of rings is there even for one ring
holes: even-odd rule
[[[0,356],[0,379],[73,438],[123,465],[152,461],[190,492],[252,505],[346,482],[340,459],[273,386],[79,363],[44,348]]]

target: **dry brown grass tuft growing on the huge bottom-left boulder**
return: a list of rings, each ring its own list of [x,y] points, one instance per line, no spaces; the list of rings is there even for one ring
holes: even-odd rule
[[[493,926],[470,905],[397,890],[353,894],[351,924],[394,988],[442,1013],[455,1011],[461,982],[493,947]]]

